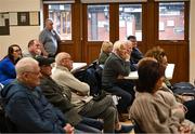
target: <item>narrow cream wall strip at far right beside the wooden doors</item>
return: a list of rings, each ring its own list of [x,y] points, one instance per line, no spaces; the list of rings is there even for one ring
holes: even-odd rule
[[[190,81],[195,80],[195,0],[191,0],[190,10]]]

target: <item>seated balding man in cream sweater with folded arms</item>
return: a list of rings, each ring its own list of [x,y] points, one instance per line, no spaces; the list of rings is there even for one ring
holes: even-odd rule
[[[90,118],[101,118],[104,121],[104,133],[117,132],[127,133],[132,126],[119,124],[117,109],[112,96],[105,96],[100,100],[94,100],[89,96],[90,88],[87,83],[79,81],[70,72],[73,61],[68,53],[58,53],[55,57],[56,67],[52,78],[60,85],[72,92],[72,103],[76,106],[79,115]]]

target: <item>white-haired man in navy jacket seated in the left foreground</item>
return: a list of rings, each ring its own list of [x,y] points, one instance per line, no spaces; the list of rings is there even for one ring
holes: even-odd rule
[[[22,58],[15,66],[16,80],[1,91],[5,115],[14,123],[16,132],[74,133],[63,113],[52,107],[42,95],[38,62]]]

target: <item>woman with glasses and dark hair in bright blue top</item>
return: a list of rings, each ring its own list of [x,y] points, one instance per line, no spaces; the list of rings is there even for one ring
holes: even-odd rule
[[[12,44],[9,46],[8,55],[0,61],[0,83],[5,85],[15,79],[15,64],[21,59],[22,56],[20,45]]]

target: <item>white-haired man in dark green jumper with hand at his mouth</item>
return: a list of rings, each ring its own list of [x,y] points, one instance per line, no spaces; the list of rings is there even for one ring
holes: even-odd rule
[[[117,105],[120,113],[128,112],[128,107],[133,100],[130,93],[133,85],[125,85],[128,81],[123,79],[130,73],[130,50],[127,48],[125,41],[114,43],[113,53],[107,58],[102,75],[103,90],[121,97]]]

